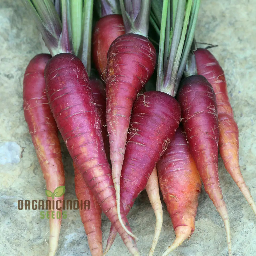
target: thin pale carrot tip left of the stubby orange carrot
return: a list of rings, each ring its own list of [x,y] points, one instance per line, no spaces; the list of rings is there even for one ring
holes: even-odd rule
[[[148,254],[148,256],[152,256],[155,251],[156,244],[160,236],[162,225],[163,225],[163,209],[162,209],[162,203],[159,195],[159,185],[158,185],[156,167],[154,168],[153,172],[148,178],[148,182],[145,189],[147,191],[148,198],[150,200],[150,203],[152,205],[152,208],[156,216],[155,234],[154,234],[152,246],[150,248],[150,252]]]

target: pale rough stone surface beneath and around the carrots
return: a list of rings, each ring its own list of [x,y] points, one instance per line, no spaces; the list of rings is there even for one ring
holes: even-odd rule
[[[256,199],[256,144],[253,139],[256,131],[256,26],[253,1],[201,2],[196,39],[198,42],[219,45],[211,52],[226,74],[230,103],[239,127],[241,170]],[[29,60],[39,54],[42,48],[35,22],[29,19],[22,1],[0,0],[0,20],[0,143],[12,142],[20,147],[18,150],[16,147],[14,152],[16,161],[4,161],[5,164],[0,165],[0,255],[47,255],[48,220],[40,219],[39,210],[17,209],[19,199],[45,199],[45,180],[22,109],[23,74]],[[72,163],[64,143],[62,148],[66,175],[65,199],[73,200],[76,196]],[[20,161],[17,160],[19,158]],[[220,158],[219,177],[230,217],[233,255],[256,255],[255,216]],[[155,250],[157,256],[162,255],[175,238],[164,204],[163,211],[163,228]],[[67,216],[62,221],[56,255],[90,255],[79,211],[68,210]],[[141,255],[147,255],[153,238],[155,217],[145,192],[136,200],[129,221],[134,234],[140,238],[137,245]],[[110,222],[102,215],[103,246],[109,229]],[[119,236],[109,255],[128,255]],[[204,190],[199,199],[193,236],[171,255],[227,255],[224,225]]]

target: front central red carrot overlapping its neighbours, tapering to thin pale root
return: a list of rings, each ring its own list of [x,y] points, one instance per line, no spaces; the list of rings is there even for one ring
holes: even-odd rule
[[[106,123],[119,219],[120,176],[132,106],[137,93],[153,74],[155,62],[155,47],[146,37],[137,34],[119,36],[108,51]]]

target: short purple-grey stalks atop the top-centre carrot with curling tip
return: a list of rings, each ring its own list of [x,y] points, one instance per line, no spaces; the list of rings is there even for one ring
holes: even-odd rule
[[[120,0],[125,33],[148,36],[150,0]]]

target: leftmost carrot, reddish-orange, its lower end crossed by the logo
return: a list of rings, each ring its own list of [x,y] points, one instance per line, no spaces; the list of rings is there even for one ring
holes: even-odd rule
[[[46,181],[46,188],[53,193],[57,187],[64,186],[65,177],[58,128],[45,93],[44,69],[50,58],[49,54],[39,54],[29,62],[23,80],[23,109],[29,133]],[[61,200],[58,206],[62,207],[64,195],[55,199],[52,199],[52,197],[47,199],[51,200],[55,206],[55,201]],[[49,216],[51,216],[51,209],[49,209]],[[60,214],[58,218],[57,212]],[[54,211],[54,218],[49,219],[49,255],[55,255],[58,247],[61,216],[62,210]]]

